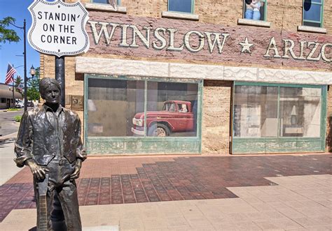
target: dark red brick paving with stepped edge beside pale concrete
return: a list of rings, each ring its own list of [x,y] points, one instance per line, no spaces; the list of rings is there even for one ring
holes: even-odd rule
[[[78,200],[95,205],[235,198],[226,187],[273,185],[263,177],[331,174],[331,161],[325,154],[90,158],[76,181]],[[36,207],[31,182],[25,168],[0,186],[0,221],[12,209]]]

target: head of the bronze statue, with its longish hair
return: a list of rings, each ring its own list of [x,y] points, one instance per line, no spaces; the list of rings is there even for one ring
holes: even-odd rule
[[[39,82],[39,92],[46,103],[60,103],[61,89],[57,80],[44,77]]]

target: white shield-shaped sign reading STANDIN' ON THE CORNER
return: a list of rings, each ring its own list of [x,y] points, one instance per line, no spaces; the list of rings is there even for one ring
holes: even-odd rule
[[[28,40],[34,49],[57,57],[88,51],[85,24],[89,16],[80,2],[34,0],[28,9],[32,15]]]

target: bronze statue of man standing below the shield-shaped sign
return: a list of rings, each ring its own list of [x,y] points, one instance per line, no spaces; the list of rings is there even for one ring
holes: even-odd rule
[[[75,183],[86,158],[81,120],[78,114],[60,105],[57,80],[41,79],[39,91],[46,103],[23,114],[14,161],[18,167],[27,165],[34,176],[37,230],[53,230],[50,214],[55,191],[67,230],[82,230]]]

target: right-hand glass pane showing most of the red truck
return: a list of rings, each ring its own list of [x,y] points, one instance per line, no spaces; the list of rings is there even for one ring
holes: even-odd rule
[[[148,136],[196,136],[198,84],[148,82]]]

